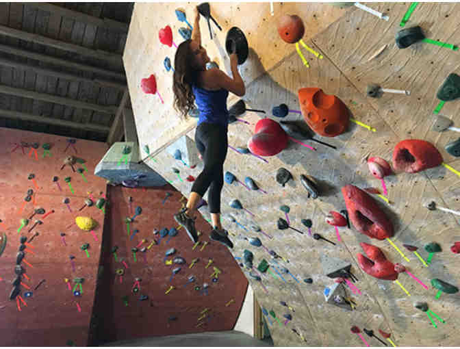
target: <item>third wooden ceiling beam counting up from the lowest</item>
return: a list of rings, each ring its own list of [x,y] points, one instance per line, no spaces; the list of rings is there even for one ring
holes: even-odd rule
[[[126,77],[122,73],[116,73],[114,71],[97,68],[95,66],[88,66],[87,64],[71,62],[69,60],[62,60],[61,58],[52,57],[50,55],[42,55],[41,53],[18,49],[16,47],[10,47],[4,44],[0,44],[0,51],[4,53],[10,53],[11,55],[21,55],[23,57],[29,58],[30,60],[38,60],[41,62],[56,64],[58,66],[66,66],[68,68],[84,70],[99,75],[105,75],[107,77],[113,77],[123,82],[126,81]]]

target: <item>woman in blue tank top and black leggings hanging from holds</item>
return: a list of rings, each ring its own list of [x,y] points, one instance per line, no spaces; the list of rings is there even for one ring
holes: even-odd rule
[[[194,103],[199,109],[195,142],[203,158],[204,168],[193,183],[186,207],[175,214],[174,219],[186,229],[190,239],[196,243],[198,234],[195,229],[195,207],[209,188],[207,201],[214,227],[211,240],[233,248],[227,236],[228,232],[222,229],[220,224],[220,192],[224,185],[223,166],[228,146],[227,96],[229,92],[244,96],[246,88],[238,73],[238,57],[235,54],[234,43],[230,55],[233,79],[218,68],[206,70],[206,64],[210,60],[206,50],[201,46],[200,14],[197,8],[194,8],[194,14],[192,38],[182,42],[176,51],[172,91],[174,107],[181,117],[187,118],[190,109],[194,108]]]

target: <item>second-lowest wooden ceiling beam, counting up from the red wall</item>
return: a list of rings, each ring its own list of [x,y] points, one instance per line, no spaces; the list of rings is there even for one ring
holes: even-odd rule
[[[123,90],[124,88],[127,87],[126,84],[118,83],[116,81],[108,81],[104,79],[87,79],[86,77],[79,77],[78,75],[68,74],[68,73],[64,73],[64,72],[60,72],[60,71],[52,70],[52,69],[41,68],[40,66],[33,66],[31,64],[25,64],[25,63],[5,60],[3,58],[0,58],[0,65],[9,66],[11,68],[19,68],[25,71],[31,71],[36,74],[57,77],[59,79],[64,79],[68,81],[96,83],[97,85],[100,85],[100,86],[108,86],[112,88],[118,88],[120,90]]]

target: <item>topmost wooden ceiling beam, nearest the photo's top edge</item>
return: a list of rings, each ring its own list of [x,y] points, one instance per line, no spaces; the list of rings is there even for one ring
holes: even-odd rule
[[[51,12],[53,14],[59,14],[62,17],[75,19],[75,21],[82,23],[97,25],[98,27],[103,27],[114,31],[121,31],[122,33],[127,33],[129,29],[129,24],[127,23],[114,21],[110,18],[97,18],[83,12],[69,10],[68,8],[52,5],[51,3],[27,3],[27,6],[30,8],[38,8],[39,10]]]

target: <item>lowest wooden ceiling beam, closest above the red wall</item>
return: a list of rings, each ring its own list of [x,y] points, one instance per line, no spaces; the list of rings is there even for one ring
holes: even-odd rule
[[[112,105],[99,105],[94,103],[86,103],[82,101],[77,101],[75,99],[70,99],[61,96],[55,96],[53,94],[40,93],[30,90],[23,90],[22,88],[12,88],[10,86],[0,85],[0,93],[12,94],[13,96],[29,98],[29,99],[38,99],[40,101],[56,103],[61,105],[68,105],[69,107],[81,108],[81,109],[90,109],[95,112],[100,112],[104,114],[115,114],[117,108]]]

